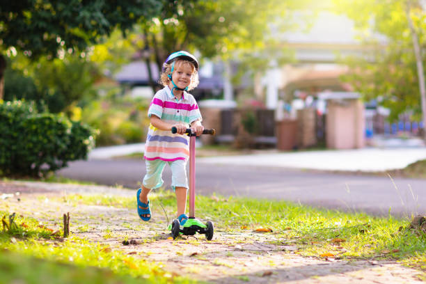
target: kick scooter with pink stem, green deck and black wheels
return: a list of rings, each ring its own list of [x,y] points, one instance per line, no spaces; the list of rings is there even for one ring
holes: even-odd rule
[[[172,133],[178,132],[176,127],[172,127]],[[168,230],[171,230],[172,237],[175,239],[181,233],[182,235],[193,236],[198,232],[199,234],[205,234],[205,238],[209,241],[213,238],[213,223],[207,221],[205,224],[195,218],[195,141],[196,134],[192,132],[191,128],[188,128],[185,133],[189,136],[189,219],[180,226],[180,222],[175,219],[168,226]],[[214,135],[214,129],[204,129],[203,134]]]

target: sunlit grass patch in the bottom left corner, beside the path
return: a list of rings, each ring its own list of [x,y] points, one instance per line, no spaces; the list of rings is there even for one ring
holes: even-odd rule
[[[108,246],[61,239],[36,219],[13,223],[0,232],[0,283],[194,283]]]

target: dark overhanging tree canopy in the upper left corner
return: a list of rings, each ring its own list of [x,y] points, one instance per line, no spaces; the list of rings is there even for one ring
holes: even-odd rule
[[[30,58],[84,51],[118,27],[125,32],[159,13],[161,0],[22,0],[0,2],[0,90],[7,49]],[[0,98],[3,93],[0,93]]]

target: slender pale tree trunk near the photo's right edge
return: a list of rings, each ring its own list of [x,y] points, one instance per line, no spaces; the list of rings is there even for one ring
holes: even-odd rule
[[[416,29],[414,29],[413,21],[410,16],[410,0],[407,1],[407,20],[410,28],[411,38],[413,40],[414,55],[416,56],[417,64],[417,76],[418,76],[418,86],[420,88],[420,98],[422,103],[422,113],[423,113],[423,139],[426,140],[426,87],[425,87],[425,72],[423,70],[423,61],[422,54],[420,52],[420,45],[418,42],[418,36]]]

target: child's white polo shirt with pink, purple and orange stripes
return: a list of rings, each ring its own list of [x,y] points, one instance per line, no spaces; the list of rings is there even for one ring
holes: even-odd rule
[[[184,92],[180,100],[172,95],[168,86],[159,90],[152,99],[148,116],[158,116],[166,123],[184,123],[189,127],[195,120],[201,120],[201,113],[193,95]],[[172,134],[150,124],[145,143],[145,159],[175,161],[189,158],[189,136]]]

